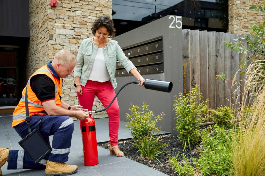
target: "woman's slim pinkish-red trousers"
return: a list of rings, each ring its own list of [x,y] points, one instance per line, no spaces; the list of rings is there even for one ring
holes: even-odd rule
[[[79,104],[89,111],[94,111],[92,106],[95,95],[104,107],[107,107],[115,96],[114,88],[110,81],[101,83],[88,80],[85,87],[82,85],[81,87],[83,92],[82,95],[77,94]],[[118,131],[120,124],[120,108],[117,98],[106,111],[109,116],[109,142],[111,146],[114,146],[118,144]]]

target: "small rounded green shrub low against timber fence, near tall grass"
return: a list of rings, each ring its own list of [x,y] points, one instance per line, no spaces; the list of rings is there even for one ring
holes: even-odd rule
[[[232,128],[231,120],[235,119],[231,108],[224,106],[219,107],[217,110],[211,110],[214,117],[213,120],[217,122],[218,126],[223,126],[226,129]]]

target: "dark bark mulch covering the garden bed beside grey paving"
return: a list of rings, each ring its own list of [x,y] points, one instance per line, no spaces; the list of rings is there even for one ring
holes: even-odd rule
[[[192,163],[191,157],[198,158],[198,154],[196,153],[196,146],[191,146],[191,149],[189,149],[189,147],[186,146],[184,150],[183,143],[178,140],[177,136],[167,135],[163,137],[162,140],[165,143],[169,144],[165,150],[167,152],[157,157],[162,164],[160,164],[156,159],[149,161],[148,159],[141,157],[140,156],[141,154],[137,152],[138,149],[131,144],[131,142],[133,142],[134,140],[121,141],[119,142],[118,145],[120,150],[124,152],[126,158],[137,161],[138,163],[144,164],[148,167],[156,169],[167,175],[178,175],[177,173],[175,173],[175,170],[172,169],[172,166],[169,164],[170,156],[176,156],[179,153],[178,161],[181,162],[182,160],[181,154],[184,153],[184,155],[188,157],[188,160],[191,163]],[[109,144],[98,144],[98,146],[105,149],[109,149]],[[194,169],[196,169],[195,165],[193,165],[193,167]]]

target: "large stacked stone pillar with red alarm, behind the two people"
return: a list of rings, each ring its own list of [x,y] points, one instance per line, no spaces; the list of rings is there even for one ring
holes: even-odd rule
[[[57,0],[57,3],[57,7],[51,7],[50,0],[43,3],[39,0],[30,0],[30,7],[36,8],[30,8],[30,19],[33,19],[30,21],[30,33],[34,40],[31,38],[28,53],[32,54],[28,57],[27,64],[27,70],[32,72],[27,74],[27,78],[52,60],[55,53],[61,49],[70,50],[77,55],[81,42],[94,36],[91,32],[92,22],[99,16],[112,15],[112,0]],[[69,75],[64,79],[61,97],[68,104],[78,105],[73,85],[74,77]],[[92,110],[102,108],[104,106],[95,97]],[[108,117],[105,111],[92,116]]]

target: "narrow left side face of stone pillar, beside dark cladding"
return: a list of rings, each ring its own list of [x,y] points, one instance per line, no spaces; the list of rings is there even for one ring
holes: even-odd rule
[[[27,52],[27,79],[48,62],[47,2],[29,0],[30,40]]]

